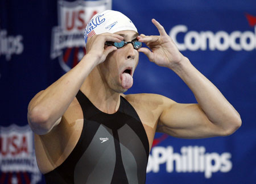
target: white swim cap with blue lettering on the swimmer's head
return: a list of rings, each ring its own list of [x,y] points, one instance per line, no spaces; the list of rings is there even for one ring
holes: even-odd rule
[[[85,45],[90,36],[104,32],[114,33],[118,31],[137,31],[133,22],[119,11],[105,10],[93,16],[84,31]]]

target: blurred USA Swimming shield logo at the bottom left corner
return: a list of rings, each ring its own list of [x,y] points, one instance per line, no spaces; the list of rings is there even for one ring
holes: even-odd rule
[[[41,183],[30,127],[0,127],[0,183]]]

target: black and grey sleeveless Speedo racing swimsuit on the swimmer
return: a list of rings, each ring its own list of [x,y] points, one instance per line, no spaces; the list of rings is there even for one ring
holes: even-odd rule
[[[81,92],[84,115],[81,136],[67,159],[44,174],[46,183],[145,183],[149,144],[133,106],[121,97],[119,110],[106,114]]]

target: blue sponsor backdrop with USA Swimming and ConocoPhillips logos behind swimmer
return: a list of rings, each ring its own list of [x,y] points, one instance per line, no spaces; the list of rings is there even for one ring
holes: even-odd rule
[[[27,125],[28,102],[80,61],[83,32],[97,12],[129,16],[139,33],[159,20],[180,51],[240,112],[228,137],[176,139],[156,134],[146,183],[256,183],[256,1],[0,1],[0,183],[44,183]],[[193,94],[143,54],[127,93],[157,93],[180,103]],[[104,169],[104,168],[102,168]]]

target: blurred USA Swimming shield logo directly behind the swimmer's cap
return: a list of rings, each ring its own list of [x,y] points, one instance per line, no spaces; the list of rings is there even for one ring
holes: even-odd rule
[[[61,68],[68,72],[85,55],[84,30],[98,12],[110,10],[112,0],[57,2],[58,25],[52,28],[51,59],[58,58]],[[97,23],[101,23],[100,17]],[[97,25],[96,23],[96,25]],[[94,24],[86,35],[93,34]]]

